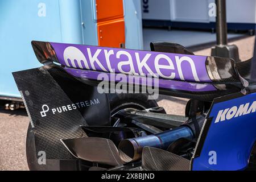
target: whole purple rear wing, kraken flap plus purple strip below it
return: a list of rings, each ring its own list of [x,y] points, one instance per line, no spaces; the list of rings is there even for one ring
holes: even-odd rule
[[[159,78],[160,88],[188,92],[247,86],[229,58],[37,41],[32,47],[40,63],[60,63],[82,79],[97,80],[100,73],[152,76]]]

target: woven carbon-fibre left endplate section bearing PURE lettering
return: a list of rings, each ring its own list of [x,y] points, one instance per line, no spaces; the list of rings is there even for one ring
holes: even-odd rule
[[[77,109],[62,108],[53,114],[52,109],[72,105],[73,102],[60,88],[45,67],[13,73],[16,84],[26,105],[35,135],[36,152],[46,152],[47,159],[73,159],[60,139],[81,138],[86,134],[81,129],[87,123]],[[49,111],[42,117],[43,105]],[[44,110],[47,110],[44,107]],[[38,155],[37,155],[38,156]]]

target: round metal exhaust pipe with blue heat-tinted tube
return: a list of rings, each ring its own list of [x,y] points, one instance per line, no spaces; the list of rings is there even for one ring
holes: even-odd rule
[[[186,138],[192,140],[199,135],[204,118],[200,115],[197,118],[189,120],[185,125],[172,130],[155,135],[122,140],[118,146],[120,158],[126,163],[133,162],[141,159],[143,147],[148,146],[167,150],[170,144],[177,139]]]

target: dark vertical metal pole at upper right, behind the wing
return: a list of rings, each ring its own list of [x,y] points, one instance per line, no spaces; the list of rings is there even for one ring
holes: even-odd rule
[[[216,0],[217,17],[216,17],[216,36],[217,45],[228,44],[227,26],[226,26],[226,0]]]

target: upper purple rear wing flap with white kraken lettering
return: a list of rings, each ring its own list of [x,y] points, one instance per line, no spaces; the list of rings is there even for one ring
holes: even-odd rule
[[[174,43],[151,43],[153,50],[164,52],[38,41],[32,41],[32,47],[40,63],[56,62],[71,68],[125,74],[155,76],[157,73],[158,77],[178,81],[220,84],[241,82],[234,60],[192,55],[192,52]],[[170,47],[179,53],[166,53],[166,48]],[[130,70],[120,65],[129,65]]]

